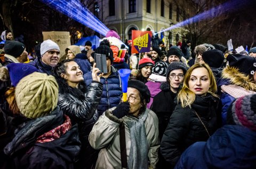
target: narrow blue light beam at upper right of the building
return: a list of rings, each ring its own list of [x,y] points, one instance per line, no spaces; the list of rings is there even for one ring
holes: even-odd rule
[[[190,25],[192,23],[196,23],[198,21],[202,21],[202,20],[205,20],[205,19],[215,18],[215,17],[218,17],[219,15],[223,14],[223,12],[225,12],[225,11],[242,9],[242,7],[245,6],[245,4],[247,2],[250,2],[250,0],[243,0],[243,1],[241,1],[241,0],[236,0],[236,1],[231,0],[229,2],[221,4],[219,6],[212,7],[212,9],[210,9],[208,11],[205,11],[203,13],[199,13],[199,14],[195,15],[194,17],[189,18],[185,21],[179,22],[179,23],[177,23],[177,24],[175,24],[175,25],[173,25],[169,28],[158,31],[158,33],[156,33],[156,34],[162,33],[164,31],[176,29],[176,28],[179,28],[179,27],[183,27],[183,26],[186,26],[186,25]]]

